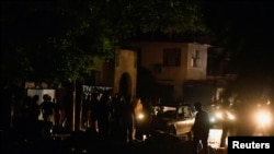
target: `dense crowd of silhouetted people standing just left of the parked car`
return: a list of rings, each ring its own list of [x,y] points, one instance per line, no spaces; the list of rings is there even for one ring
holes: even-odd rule
[[[150,107],[146,104],[139,97],[92,93],[83,103],[82,127],[98,132],[103,140],[130,142],[138,138],[136,115]]]

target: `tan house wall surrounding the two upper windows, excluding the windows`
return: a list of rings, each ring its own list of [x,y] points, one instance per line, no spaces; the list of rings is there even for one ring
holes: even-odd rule
[[[185,81],[206,79],[207,45],[167,42],[141,42],[132,43],[130,45],[139,50],[139,64],[151,71],[157,79],[157,83],[173,86],[173,98],[183,97]],[[172,48],[181,50],[180,66],[170,67],[163,64],[163,50]],[[193,60],[198,61],[198,66],[194,67]]]

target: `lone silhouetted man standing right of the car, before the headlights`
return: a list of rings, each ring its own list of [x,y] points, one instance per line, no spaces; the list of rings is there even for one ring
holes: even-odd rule
[[[197,154],[198,152],[198,145],[199,141],[202,141],[202,151],[204,154],[208,154],[208,133],[209,133],[209,116],[208,114],[203,109],[203,106],[199,102],[195,103],[195,109],[197,110],[195,122],[192,127],[192,131],[194,134],[193,139],[193,154]]]

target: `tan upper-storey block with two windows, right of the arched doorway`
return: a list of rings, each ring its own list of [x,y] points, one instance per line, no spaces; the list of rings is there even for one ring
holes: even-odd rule
[[[196,43],[132,43],[138,52],[138,66],[151,72],[160,95],[183,98],[184,83],[206,80],[208,45]],[[161,90],[160,90],[161,88]]]

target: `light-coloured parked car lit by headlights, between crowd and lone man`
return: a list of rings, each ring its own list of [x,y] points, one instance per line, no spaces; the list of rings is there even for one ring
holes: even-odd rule
[[[192,104],[164,104],[153,107],[150,129],[192,139],[195,109]]]

